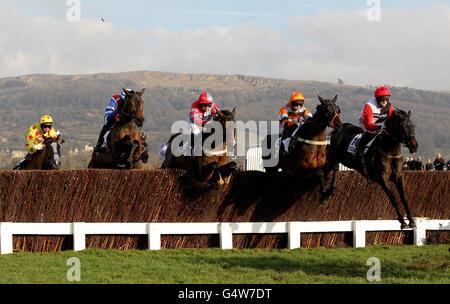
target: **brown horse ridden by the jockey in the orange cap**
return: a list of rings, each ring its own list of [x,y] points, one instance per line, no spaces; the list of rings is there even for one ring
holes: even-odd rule
[[[319,98],[320,104],[312,118],[304,121],[298,127],[288,144],[286,153],[280,145],[278,152],[278,163],[275,166],[267,165],[267,160],[272,156],[263,156],[263,166],[267,174],[274,175],[279,169],[289,176],[300,177],[313,174],[319,177],[320,191],[325,191],[325,165],[327,155],[326,131],[327,127],[333,129],[342,128],[339,117],[341,110],[336,105],[337,95],[332,99]],[[266,145],[270,149],[271,136],[266,137]]]

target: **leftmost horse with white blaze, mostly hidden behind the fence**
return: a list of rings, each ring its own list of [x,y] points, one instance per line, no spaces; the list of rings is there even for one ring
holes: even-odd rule
[[[42,150],[37,151],[16,165],[13,170],[58,170],[61,167],[61,145],[65,143],[60,134],[46,137]],[[23,162],[26,162],[23,164]],[[20,168],[19,168],[20,167]]]

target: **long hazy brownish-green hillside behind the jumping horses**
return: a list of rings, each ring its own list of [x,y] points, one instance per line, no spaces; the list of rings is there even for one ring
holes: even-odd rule
[[[103,124],[111,95],[122,87],[146,88],[143,131],[148,134],[153,157],[167,139],[174,121],[186,120],[189,107],[204,90],[212,93],[222,108],[236,108],[241,121],[276,120],[279,109],[292,91],[302,91],[312,112],[317,95],[338,95],[341,118],[356,123],[359,112],[375,87],[360,87],[318,81],[294,81],[244,75],[175,74],[126,72],[93,75],[26,75],[0,79],[1,148],[24,149],[27,128],[43,113],[49,113],[67,140],[68,148],[94,145]],[[391,87],[395,107],[412,111],[419,142],[418,155],[450,156],[450,94]]]

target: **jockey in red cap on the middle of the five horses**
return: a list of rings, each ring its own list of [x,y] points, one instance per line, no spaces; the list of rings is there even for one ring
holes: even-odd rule
[[[191,105],[188,119],[188,132],[191,134],[191,157],[194,157],[194,143],[201,138],[203,126],[210,122],[219,110],[213,97],[208,92],[203,92],[197,101]]]

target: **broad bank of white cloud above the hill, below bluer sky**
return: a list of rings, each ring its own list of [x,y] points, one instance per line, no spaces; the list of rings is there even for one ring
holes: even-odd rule
[[[3,4],[2,4],[3,6]],[[450,7],[322,11],[280,32],[239,24],[138,31],[101,20],[30,18],[0,10],[0,77],[159,70],[450,89]]]

